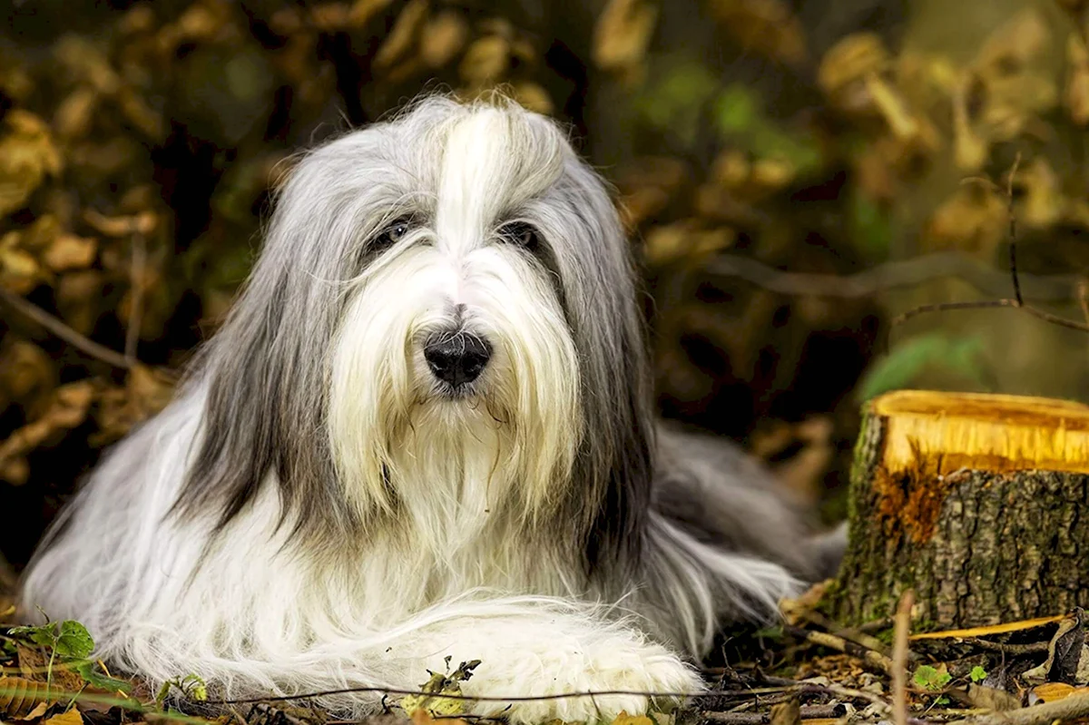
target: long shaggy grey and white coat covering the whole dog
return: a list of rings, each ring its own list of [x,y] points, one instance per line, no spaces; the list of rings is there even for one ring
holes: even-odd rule
[[[432,376],[436,335],[487,341],[480,378]],[[602,182],[542,116],[426,99],[292,171],[229,320],[62,513],[23,603],[225,697],[413,688],[448,655],[482,661],[469,695],[694,691],[686,658],[818,552],[767,475],[650,402]]]

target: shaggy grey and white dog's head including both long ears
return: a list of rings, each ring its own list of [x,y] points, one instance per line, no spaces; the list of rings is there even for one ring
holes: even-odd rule
[[[599,177],[513,103],[426,99],[318,148],[199,368],[182,507],[231,518],[274,479],[344,530],[472,458],[491,503],[623,538],[650,475],[634,279]]]

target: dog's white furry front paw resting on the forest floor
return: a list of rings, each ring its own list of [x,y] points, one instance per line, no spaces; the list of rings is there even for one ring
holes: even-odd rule
[[[512,723],[539,725],[611,722],[622,711],[643,714],[676,702],[675,693],[697,693],[706,686],[696,671],[656,643],[610,638],[594,648],[564,650],[540,642],[506,662],[482,663],[465,685],[475,697],[547,697],[511,702],[478,702],[474,712],[505,715]],[[589,651],[588,651],[589,650]],[[605,695],[604,692],[620,692]],[[602,695],[592,695],[601,692]],[[574,697],[555,697],[576,693]],[[648,693],[662,693],[649,697]]]

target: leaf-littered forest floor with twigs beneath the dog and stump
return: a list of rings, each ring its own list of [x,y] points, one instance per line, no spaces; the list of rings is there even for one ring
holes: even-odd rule
[[[306,698],[238,702],[209,715],[197,674],[152,692],[93,659],[82,625],[4,626],[0,594],[0,722],[27,725],[347,725]],[[845,628],[820,612],[824,585],[782,604],[778,626],[737,628],[707,663],[708,692],[680,709],[622,714],[612,725],[1048,725],[1089,721],[1089,649],[1080,610],[1025,622],[913,635],[910,601],[885,620]],[[360,725],[476,725],[464,715],[461,667],[416,695],[390,693]],[[423,677],[421,677],[423,679]],[[440,697],[441,695],[441,697]],[[585,697],[585,695],[584,695]],[[657,702],[657,701],[656,701]],[[489,722],[495,718],[487,718]],[[559,725],[558,723],[551,725]]]

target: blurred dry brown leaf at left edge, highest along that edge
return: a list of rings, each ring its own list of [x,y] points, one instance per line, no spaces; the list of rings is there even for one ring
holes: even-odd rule
[[[48,175],[62,169],[49,126],[22,109],[4,116],[0,136],[0,217],[21,209]]]

